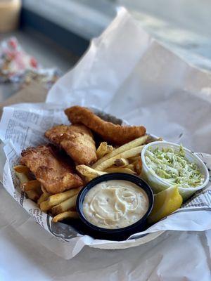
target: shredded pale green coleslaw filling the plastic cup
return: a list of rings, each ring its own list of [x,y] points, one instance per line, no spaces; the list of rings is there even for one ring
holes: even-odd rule
[[[184,148],[156,148],[146,150],[146,164],[152,173],[170,184],[182,188],[196,188],[203,184],[204,178],[198,166],[186,159]]]

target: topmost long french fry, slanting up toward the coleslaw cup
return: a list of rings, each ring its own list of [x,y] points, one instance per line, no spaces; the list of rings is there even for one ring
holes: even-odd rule
[[[134,141],[130,141],[129,143],[126,143],[125,145],[122,145],[119,148],[116,148],[115,150],[113,150],[113,152],[110,152],[107,155],[105,155],[104,157],[102,157],[101,159],[98,159],[98,161],[95,162],[91,166],[91,168],[96,169],[97,166],[100,166],[106,160],[113,158],[116,155],[120,155],[120,153],[122,153],[124,151],[131,150],[132,148],[136,148],[140,145],[143,145],[143,143],[146,143],[147,138],[148,138],[148,135],[141,136],[140,138],[136,138]]]

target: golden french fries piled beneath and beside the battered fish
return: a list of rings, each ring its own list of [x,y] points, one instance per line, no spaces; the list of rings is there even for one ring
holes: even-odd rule
[[[161,141],[162,139],[158,139]],[[157,140],[157,141],[158,141]],[[96,154],[98,160],[92,166],[77,165],[76,169],[84,177],[86,183],[97,176],[108,173],[141,174],[141,150],[150,142],[147,135],[136,138],[119,148],[113,148],[103,142],[99,145]],[[41,211],[53,216],[53,223],[65,218],[78,218],[76,200],[81,188],[74,188],[65,192],[51,195],[41,183],[32,177],[27,166],[14,166],[15,174],[20,180],[20,188],[31,200],[37,202]]]

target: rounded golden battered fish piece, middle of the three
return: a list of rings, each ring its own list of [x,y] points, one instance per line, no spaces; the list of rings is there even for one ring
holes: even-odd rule
[[[97,160],[93,135],[83,125],[54,126],[46,131],[45,136],[63,148],[77,164],[90,165]]]

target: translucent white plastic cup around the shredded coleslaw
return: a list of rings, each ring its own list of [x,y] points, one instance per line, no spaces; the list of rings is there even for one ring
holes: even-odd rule
[[[146,145],[142,152],[141,152],[141,160],[142,160],[142,171],[141,171],[141,177],[143,179],[145,179],[149,185],[151,185],[151,188],[153,189],[153,192],[158,193],[162,190],[165,190],[167,188],[170,188],[170,186],[172,186],[170,183],[168,183],[167,181],[165,181],[164,178],[160,178],[159,176],[155,175],[152,173],[152,171],[148,168],[146,161],[145,161],[145,154],[146,154],[146,150],[148,150],[148,148],[173,148],[174,150],[179,150],[180,145],[177,145],[175,143],[169,143],[166,141],[155,141],[153,143],[148,143],[148,145]],[[185,156],[186,158],[193,163],[196,163],[198,166],[198,169],[200,170],[201,174],[203,174],[204,176],[204,182],[202,185],[198,186],[197,188],[182,188],[179,187],[179,193],[181,194],[181,196],[183,197],[183,200],[187,200],[188,197],[191,197],[191,195],[193,195],[194,192],[201,190],[203,188],[205,188],[205,186],[207,185],[208,181],[209,181],[209,172],[207,170],[207,167],[205,166],[205,164],[203,163],[203,161],[196,156],[193,152],[191,152],[190,150],[188,150],[187,148],[184,148],[184,152],[185,152]]]

